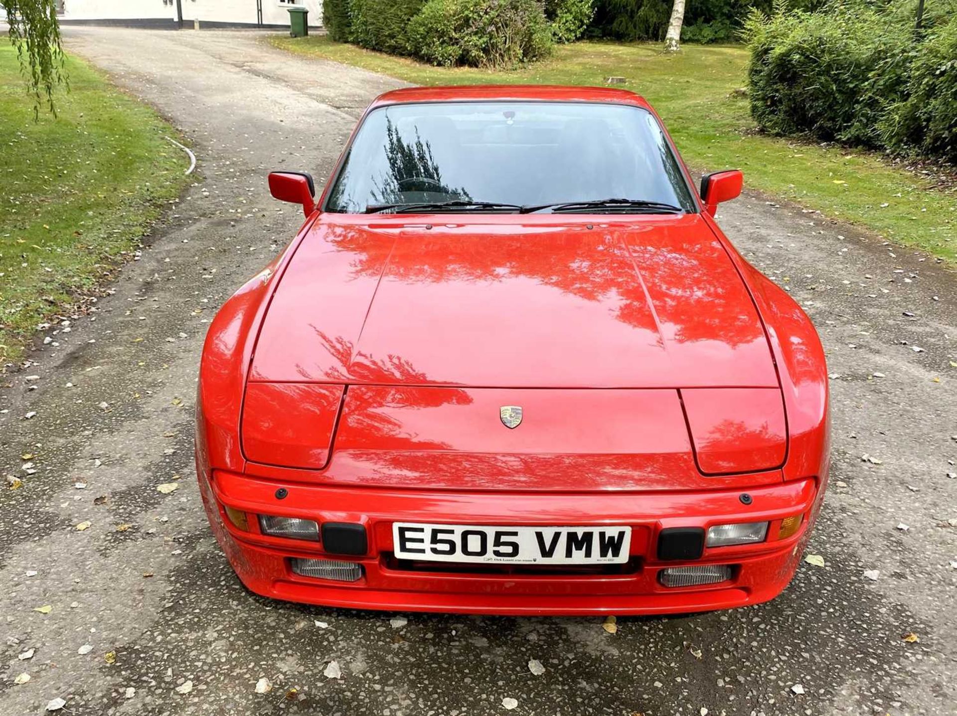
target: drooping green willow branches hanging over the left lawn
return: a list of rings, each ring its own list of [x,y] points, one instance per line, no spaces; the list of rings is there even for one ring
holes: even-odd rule
[[[44,103],[56,116],[54,90],[58,84],[67,84],[56,0],[0,0],[0,7],[7,11],[10,41],[27,80],[27,92],[33,96],[33,119],[39,119]]]

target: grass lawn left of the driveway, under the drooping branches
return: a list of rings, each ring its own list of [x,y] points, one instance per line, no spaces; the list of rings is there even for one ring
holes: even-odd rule
[[[0,364],[129,257],[186,182],[188,159],[163,138],[171,126],[80,60],[67,71],[58,116],[34,123],[0,41]]]

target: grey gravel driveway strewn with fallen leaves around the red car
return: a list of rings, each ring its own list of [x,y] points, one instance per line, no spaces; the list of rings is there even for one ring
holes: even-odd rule
[[[832,491],[810,550],[824,566],[802,564],[769,604],[621,618],[612,635],[601,619],[269,602],[234,578],[195,484],[203,336],[300,224],[266,172],[324,177],[367,101],[401,83],[255,33],[65,34],[182,128],[199,174],[112,294],[0,388],[0,471],[24,479],[0,493],[0,713],[56,698],[84,716],[481,715],[503,699],[538,716],[957,712],[957,280],[943,266],[756,195],[720,211],[806,306],[832,373]]]

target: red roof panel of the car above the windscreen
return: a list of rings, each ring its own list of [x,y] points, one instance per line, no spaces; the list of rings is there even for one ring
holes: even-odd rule
[[[651,109],[640,95],[611,87],[564,87],[546,84],[476,84],[454,87],[407,87],[379,95],[372,106],[434,101],[539,100],[634,104]]]

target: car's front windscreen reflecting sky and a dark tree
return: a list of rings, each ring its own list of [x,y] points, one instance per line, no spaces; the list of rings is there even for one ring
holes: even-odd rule
[[[678,161],[647,110],[587,102],[442,101],[370,112],[324,211],[611,198],[694,211]]]

